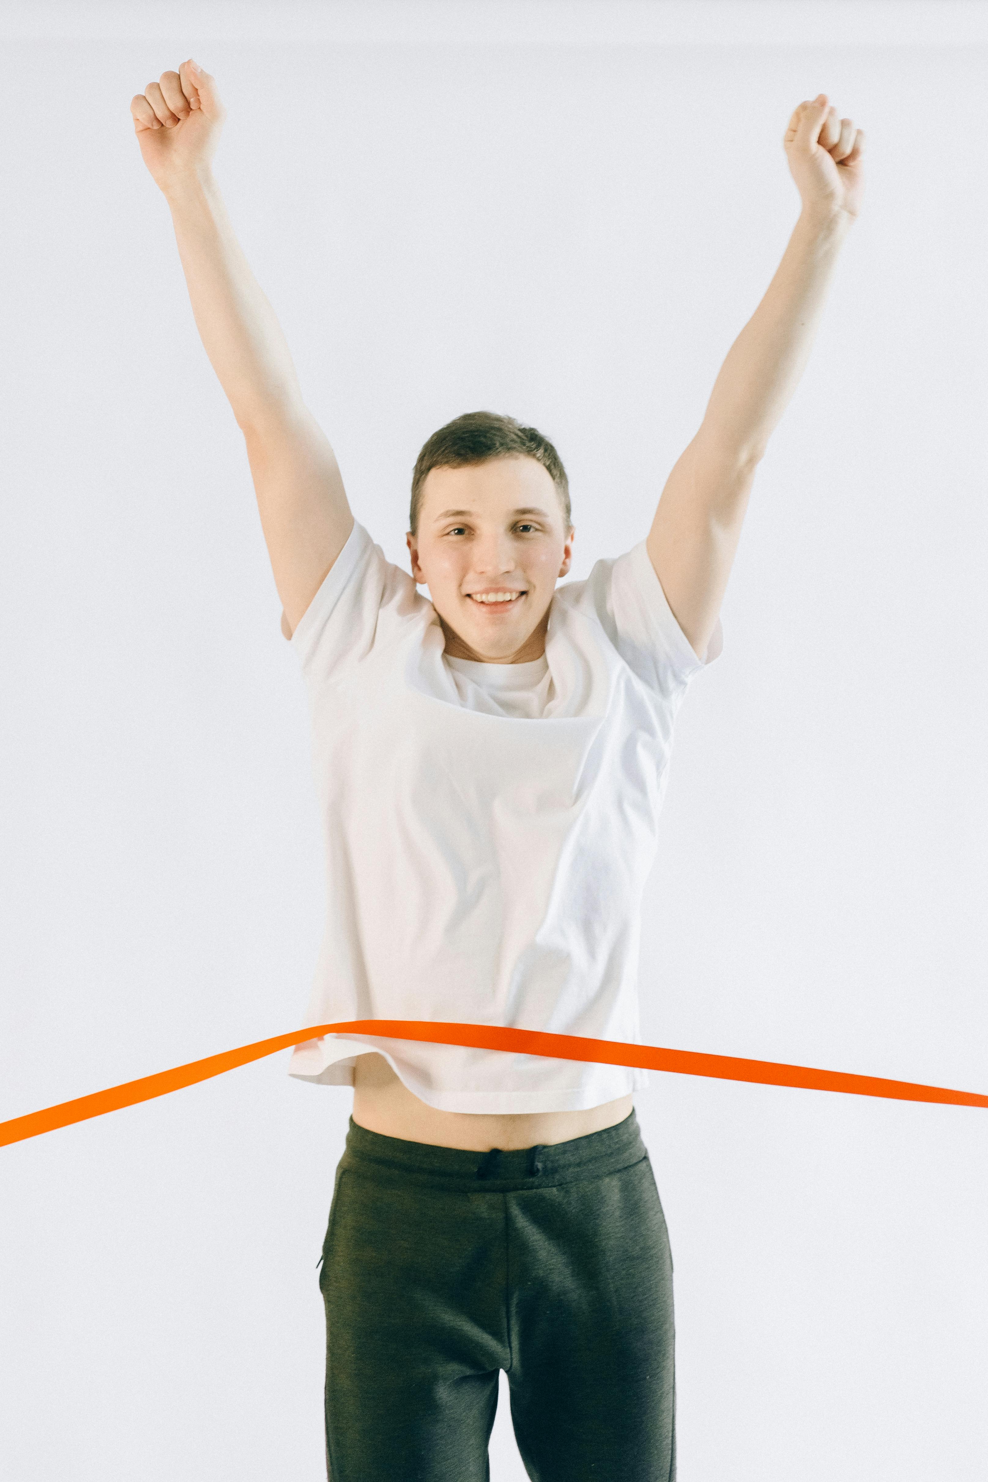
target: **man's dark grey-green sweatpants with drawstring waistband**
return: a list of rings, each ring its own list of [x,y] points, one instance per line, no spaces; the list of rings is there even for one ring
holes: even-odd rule
[[[332,1482],[675,1478],[672,1260],[638,1122],[471,1153],[350,1120],[323,1242]]]

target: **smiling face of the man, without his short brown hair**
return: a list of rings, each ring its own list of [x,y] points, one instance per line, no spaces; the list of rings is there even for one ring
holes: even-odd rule
[[[555,582],[572,562],[553,477],[535,458],[433,468],[406,535],[453,658],[524,664],[545,652]],[[492,602],[492,596],[504,600]]]

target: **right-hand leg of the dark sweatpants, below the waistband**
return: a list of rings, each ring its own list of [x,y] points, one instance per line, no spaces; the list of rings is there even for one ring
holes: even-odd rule
[[[518,1449],[533,1482],[675,1476],[672,1257],[647,1159],[510,1200]]]

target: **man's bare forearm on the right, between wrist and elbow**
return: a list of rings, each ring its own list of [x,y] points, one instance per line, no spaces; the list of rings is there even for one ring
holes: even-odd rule
[[[850,219],[803,212],[758,308],[727,353],[698,433],[718,455],[757,462],[809,360]]]

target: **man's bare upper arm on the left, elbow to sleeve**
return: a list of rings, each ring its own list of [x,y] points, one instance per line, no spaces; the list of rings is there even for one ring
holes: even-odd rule
[[[354,526],[333,449],[304,405],[244,427],[261,526],[290,637]],[[286,633],[287,625],[287,633]]]

